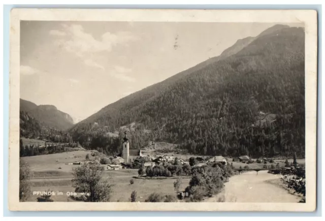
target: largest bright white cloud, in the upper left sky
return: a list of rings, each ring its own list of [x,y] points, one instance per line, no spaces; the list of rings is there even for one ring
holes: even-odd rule
[[[51,35],[59,37],[55,42],[56,45],[82,58],[85,65],[102,70],[105,70],[104,67],[91,59],[90,55],[110,52],[114,46],[126,45],[127,42],[138,40],[137,37],[127,31],[118,31],[117,33],[106,32],[100,39],[95,39],[91,34],[86,33],[82,25],[63,24],[62,27],[64,32],[59,30],[50,31]],[[63,36],[63,33],[66,35]]]

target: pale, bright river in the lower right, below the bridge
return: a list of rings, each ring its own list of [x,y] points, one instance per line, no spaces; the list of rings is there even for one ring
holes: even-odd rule
[[[240,203],[297,203],[300,197],[291,195],[282,187],[267,180],[277,179],[279,175],[268,171],[248,171],[234,175],[225,183],[222,193],[208,198],[204,202],[240,202]],[[221,199],[221,201],[220,201]]]

